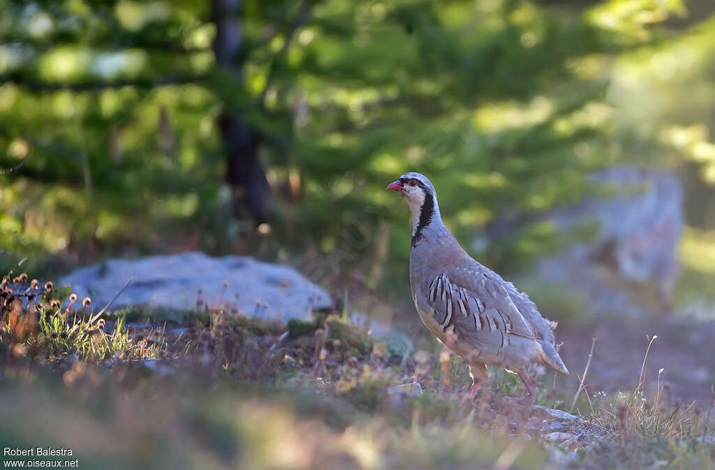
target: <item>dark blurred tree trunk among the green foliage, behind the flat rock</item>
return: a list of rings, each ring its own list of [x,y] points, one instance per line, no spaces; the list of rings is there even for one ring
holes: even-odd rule
[[[212,0],[216,64],[237,87],[243,86],[240,6],[241,0]],[[218,127],[226,158],[226,180],[233,192],[234,214],[239,218],[250,217],[256,224],[265,222],[270,212],[270,187],[257,155],[261,136],[228,104],[219,116]]]

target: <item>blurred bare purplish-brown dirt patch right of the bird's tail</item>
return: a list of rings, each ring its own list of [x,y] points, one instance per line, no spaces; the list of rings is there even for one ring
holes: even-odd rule
[[[649,351],[645,368],[646,391],[664,387],[673,401],[697,400],[709,408],[715,382],[715,321],[695,322],[682,318],[649,320],[597,320],[589,325],[562,328],[561,356],[572,375],[581,375],[586,366],[591,338],[596,337],[586,388],[590,393],[633,390],[638,383],[648,341],[658,336]],[[652,396],[652,395],[651,395]]]

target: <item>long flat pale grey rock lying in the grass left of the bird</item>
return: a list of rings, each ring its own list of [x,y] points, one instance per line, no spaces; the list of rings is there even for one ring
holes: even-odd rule
[[[332,308],[325,290],[284,265],[250,257],[212,258],[203,253],[108,260],[59,280],[79,298],[89,296],[99,310],[134,280],[113,309],[127,305],[172,310],[203,310],[225,304],[243,315],[268,320],[312,320],[313,310]]]

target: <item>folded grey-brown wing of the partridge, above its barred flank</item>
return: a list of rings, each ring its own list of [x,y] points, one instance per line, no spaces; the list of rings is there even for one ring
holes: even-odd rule
[[[536,355],[536,335],[521,315],[501,278],[486,270],[451,268],[428,287],[428,303],[443,331],[453,331],[485,357],[510,352],[524,361]]]

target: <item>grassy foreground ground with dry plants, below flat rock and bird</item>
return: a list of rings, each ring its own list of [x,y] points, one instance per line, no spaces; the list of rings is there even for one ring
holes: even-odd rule
[[[2,293],[13,308],[0,366],[16,379],[0,392],[0,438],[69,447],[80,468],[706,470],[715,461],[709,413],[672,403],[663,387],[646,397],[642,372],[631,393],[582,394],[580,432],[591,438],[544,448],[543,416],[502,398],[524,393],[513,374],[497,371],[463,403],[460,358],[398,353],[344,315],[292,330],[222,309],[125,325],[126,312],[105,320],[51,284],[15,279]],[[414,380],[422,393],[401,386]],[[563,393],[545,383],[537,403],[562,408]]]

